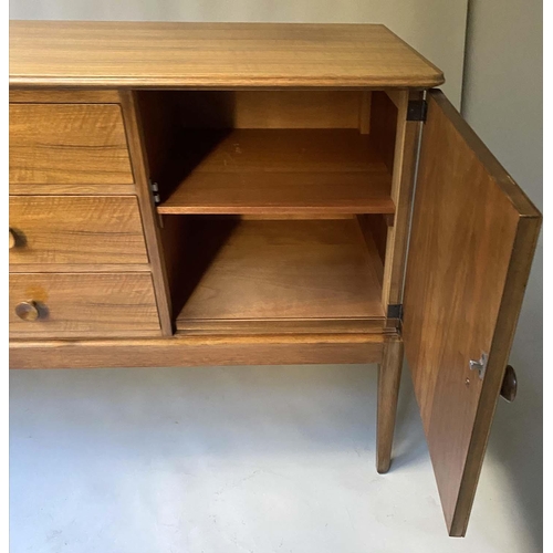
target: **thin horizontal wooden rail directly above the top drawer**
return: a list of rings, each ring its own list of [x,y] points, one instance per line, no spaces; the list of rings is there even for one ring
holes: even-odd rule
[[[117,91],[10,88],[10,104],[118,104]]]

